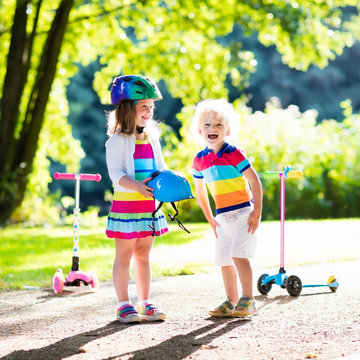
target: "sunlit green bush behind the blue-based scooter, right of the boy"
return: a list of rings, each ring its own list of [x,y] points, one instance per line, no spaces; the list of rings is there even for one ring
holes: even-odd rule
[[[268,102],[265,112],[249,113],[241,104],[241,145],[262,174],[290,164],[304,173],[302,180],[286,180],[287,216],[327,218],[360,216],[360,116],[350,101],[342,104],[344,121],[317,122],[317,112],[304,113],[278,100]],[[280,183],[263,179],[264,214],[279,219]]]

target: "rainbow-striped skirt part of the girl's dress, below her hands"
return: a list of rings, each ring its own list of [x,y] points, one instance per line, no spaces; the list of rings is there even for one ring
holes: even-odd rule
[[[115,192],[108,215],[106,236],[118,239],[138,239],[152,236],[152,213],[155,200],[140,193]],[[155,214],[155,235],[168,232],[167,222],[161,210]]]

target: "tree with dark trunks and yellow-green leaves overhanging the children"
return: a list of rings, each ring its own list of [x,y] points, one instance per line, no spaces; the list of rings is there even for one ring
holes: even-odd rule
[[[49,176],[34,173],[37,163],[43,164],[41,171],[46,167],[39,156],[73,167],[82,156],[64,121],[65,88],[76,64],[100,61],[103,67],[95,75],[94,87],[104,104],[109,103],[111,79],[119,73],[163,79],[185,105],[179,118],[186,129],[184,114],[189,114],[189,107],[201,98],[227,97],[226,80],[244,88],[254,71],[252,54],[242,51],[241,43],[220,40],[234,25],[249,35],[256,32],[266,46],[276,45],[292,67],[306,70],[311,63],[323,67],[352,44],[351,34],[342,26],[345,5],[358,2],[2,3],[0,49],[7,57],[0,60],[0,222],[19,206],[33,179],[41,189],[50,181]],[[56,136],[59,132],[67,142]]]

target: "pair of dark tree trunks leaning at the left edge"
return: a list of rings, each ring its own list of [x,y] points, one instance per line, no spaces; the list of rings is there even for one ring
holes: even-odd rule
[[[26,108],[23,111],[21,130],[16,134],[21,102],[25,96],[26,82],[30,77],[32,51],[38,30],[42,0],[35,5],[32,30],[27,33],[29,18],[27,13],[30,5],[29,0],[16,2],[3,85],[0,123],[0,172],[2,174],[0,220],[8,218],[23,200],[74,0],[62,0],[59,4],[47,34]]]

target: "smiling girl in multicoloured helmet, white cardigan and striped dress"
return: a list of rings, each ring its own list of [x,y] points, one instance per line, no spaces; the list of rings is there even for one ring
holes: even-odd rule
[[[152,119],[154,102],[162,96],[149,78],[137,75],[116,77],[111,102],[116,109],[108,114],[106,164],[114,186],[106,235],[115,239],[116,256],[113,282],[118,297],[116,318],[123,323],[164,320],[166,315],[149,300],[151,269],[149,253],[154,237],[153,189],[148,175],[165,169],[159,132]],[[155,235],[168,231],[161,211],[155,219]],[[134,258],[138,303],[136,309],[128,295],[129,267]]]

